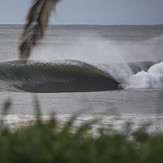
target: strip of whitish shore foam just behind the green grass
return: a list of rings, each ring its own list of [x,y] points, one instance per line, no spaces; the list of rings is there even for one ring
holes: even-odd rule
[[[72,114],[56,114],[55,120],[58,122],[58,124],[62,125],[65,124],[73,116],[74,115]],[[28,127],[36,122],[35,116],[27,114],[10,114],[5,116],[0,115],[0,118],[3,120],[3,123],[13,131],[15,129]],[[50,118],[51,116],[41,116],[41,120],[44,122],[49,121]],[[157,132],[162,132],[162,119],[162,115],[144,116],[141,114],[123,114],[121,116],[92,116],[87,114],[81,114],[75,117],[74,126],[78,127],[83,123],[98,120],[98,123],[94,123],[92,125],[92,131],[94,131],[94,134],[97,134],[96,131],[98,131],[99,128],[112,127],[120,131],[121,129],[123,130],[123,127],[126,123],[130,122],[132,123],[132,129],[134,130],[138,127],[141,127],[143,124],[149,124],[149,122],[152,122],[152,124],[148,128],[149,131],[154,132],[157,129]]]

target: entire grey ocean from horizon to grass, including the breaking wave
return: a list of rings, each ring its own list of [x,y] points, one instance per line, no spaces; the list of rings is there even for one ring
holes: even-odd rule
[[[0,106],[7,123],[30,120],[37,95],[44,116],[100,118],[102,125],[163,125],[163,26],[50,26],[26,65],[23,27],[0,26]],[[1,111],[2,112],[2,111]]]

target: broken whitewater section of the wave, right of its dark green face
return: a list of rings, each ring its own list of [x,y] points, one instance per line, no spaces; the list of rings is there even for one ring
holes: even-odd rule
[[[163,62],[96,65],[120,82],[123,89],[163,89]]]

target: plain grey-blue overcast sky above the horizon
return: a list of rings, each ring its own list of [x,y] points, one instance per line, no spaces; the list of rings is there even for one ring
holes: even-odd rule
[[[0,0],[0,24],[24,24],[33,0]],[[163,24],[163,0],[62,0],[51,24]]]

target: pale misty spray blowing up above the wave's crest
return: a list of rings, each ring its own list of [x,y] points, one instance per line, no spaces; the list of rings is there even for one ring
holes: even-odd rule
[[[87,36],[87,37],[86,37]],[[49,36],[50,37],[50,36]],[[162,60],[163,37],[149,40],[116,40],[96,34],[81,34],[65,40],[47,38],[34,49],[33,60],[80,60],[87,63],[110,64]],[[61,42],[62,41],[62,42]]]

